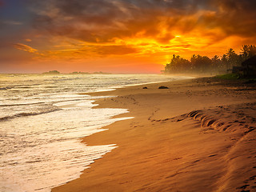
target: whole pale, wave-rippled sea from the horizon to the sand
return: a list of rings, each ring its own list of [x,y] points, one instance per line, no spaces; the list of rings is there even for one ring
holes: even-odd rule
[[[157,74],[0,74],[0,191],[50,191],[78,178],[114,143],[86,146],[126,109],[93,109],[85,92],[163,82]]]

